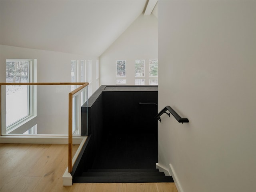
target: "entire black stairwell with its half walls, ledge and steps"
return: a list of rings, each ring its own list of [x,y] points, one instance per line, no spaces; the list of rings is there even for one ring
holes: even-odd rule
[[[73,183],[174,182],[156,169],[157,103],[157,86],[101,86],[82,106]]]

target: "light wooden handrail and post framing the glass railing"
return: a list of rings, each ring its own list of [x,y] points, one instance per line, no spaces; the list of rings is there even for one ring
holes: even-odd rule
[[[88,86],[89,83],[84,82],[49,82],[49,83],[0,83],[0,131],[2,133],[2,118],[1,118],[1,98],[2,98],[2,85],[81,85],[75,90],[68,94],[68,172],[72,172],[72,144],[73,144],[73,133],[72,133],[72,106],[73,106],[73,96],[74,94],[80,92],[83,88]],[[1,134],[0,133],[0,134]]]

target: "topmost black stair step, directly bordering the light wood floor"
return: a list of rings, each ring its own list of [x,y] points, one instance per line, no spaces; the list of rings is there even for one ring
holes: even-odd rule
[[[174,182],[172,176],[78,176],[74,183],[146,183]]]

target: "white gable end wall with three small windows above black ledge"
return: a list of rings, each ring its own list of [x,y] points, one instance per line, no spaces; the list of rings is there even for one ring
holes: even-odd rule
[[[126,60],[126,84],[134,85],[137,59],[145,59],[145,83],[150,59],[158,59],[157,18],[140,15],[100,56],[100,85],[116,84],[116,60]]]

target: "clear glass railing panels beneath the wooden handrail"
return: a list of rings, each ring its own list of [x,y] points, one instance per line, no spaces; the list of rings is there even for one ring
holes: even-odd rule
[[[2,135],[68,136],[71,91],[71,85],[2,85]],[[87,87],[73,98],[74,136],[80,136],[81,106],[87,98]]]

